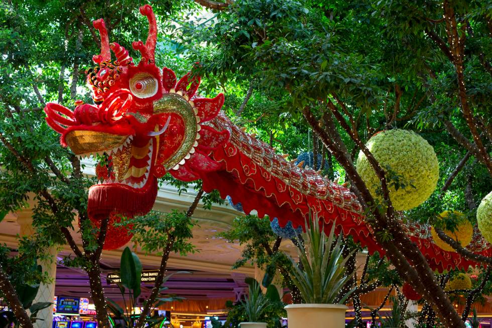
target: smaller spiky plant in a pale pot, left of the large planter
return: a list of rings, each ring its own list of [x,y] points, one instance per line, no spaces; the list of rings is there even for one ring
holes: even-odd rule
[[[263,295],[260,284],[256,280],[253,280],[249,285],[248,297],[241,302],[249,321],[241,322],[239,326],[241,328],[267,328],[267,323],[259,322],[259,320],[268,307],[268,299]]]

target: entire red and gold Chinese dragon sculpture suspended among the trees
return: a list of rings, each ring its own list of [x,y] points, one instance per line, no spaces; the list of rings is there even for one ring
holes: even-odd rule
[[[46,121],[61,134],[61,144],[76,155],[105,154],[107,163],[96,168],[100,183],[89,189],[87,211],[97,226],[110,217],[105,249],[126,244],[131,235],[115,228],[119,215],[132,217],[151,210],[157,179],[167,172],[184,181],[203,180],[205,191],[218,189],[263,217],[278,217],[281,226],[304,224],[310,211],[351,235],[373,253],[384,250],[364,222],[362,208],[347,188],[321,177],[312,169],[287,162],[269,145],[244,133],[220,112],[223,94],[200,98],[200,78],[191,73],[176,82],[175,73],[155,64],[157,25],[149,5],[140,8],[149,20],[145,44],[134,42],[142,58],[135,65],[128,51],[109,44],[102,20],[94,21],[101,35],[96,67],[87,72],[95,105],[76,102],[72,112],[56,103],[45,108]],[[111,51],[116,60],[111,62]],[[457,253],[439,249],[429,227],[406,227],[432,268],[442,271],[474,263]],[[468,246],[488,254],[489,245],[477,233]]]

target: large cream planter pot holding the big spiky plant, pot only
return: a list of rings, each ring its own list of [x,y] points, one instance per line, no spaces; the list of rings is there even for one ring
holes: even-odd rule
[[[285,307],[289,328],[344,328],[343,304],[290,304]]]

